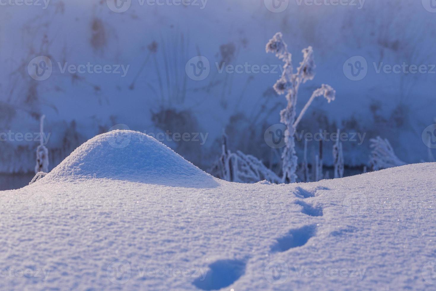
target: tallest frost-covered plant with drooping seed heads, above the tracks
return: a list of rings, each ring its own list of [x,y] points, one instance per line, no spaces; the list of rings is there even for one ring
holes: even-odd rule
[[[298,96],[298,89],[301,83],[312,80],[315,76],[315,62],[313,60],[313,49],[308,47],[303,49],[303,61],[297,68],[296,73],[293,72],[292,55],[288,51],[286,43],[282,39],[283,35],[278,32],[266,44],[266,52],[276,54],[276,57],[282,60],[285,65],[283,66],[283,74],[274,85],[274,89],[278,94],[286,93],[286,100],[288,104],[285,109],[280,112],[280,121],[286,125],[288,130],[285,132],[286,146],[283,151],[283,181],[295,182],[296,181],[296,167],[297,157],[295,153],[295,130],[306,112],[307,108],[312,103],[313,99],[318,96],[324,96],[330,103],[335,99],[336,91],[329,85],[322,85],[321,88],[315,90],[300,112],[298,118],[296,117],[296,101]]]

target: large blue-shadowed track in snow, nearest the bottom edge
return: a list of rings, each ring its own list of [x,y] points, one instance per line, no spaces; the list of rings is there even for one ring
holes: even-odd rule
[[[233,284],[245,273],[242,260],[218,260],[209,265],[210,270],[202,280],[197,278],[192,284],[201,290],[218,290]]]

